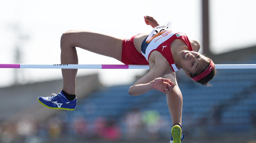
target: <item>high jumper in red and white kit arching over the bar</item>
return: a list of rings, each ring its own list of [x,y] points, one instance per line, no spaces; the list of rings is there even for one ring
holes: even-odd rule
[[[60,40],[61,63],[78,64],[76,47],[79,47],[113,57],[124,64],[149,64],[149,72],[129,88],[129,94],[141,95],[153,89],[166,94],[173,122],[170,142],[180,143],[184,138],[181,130],[183,98],[175,71],[184,69],[189,78],[208,85],[216,69],[210,58],[198,53],[200,43],[197,40],[173,31],[170,22],[160,26],[152,17],[145,16],[144,19],[147,25],[154,28],[152,32],[141,33],[130,39],[89,31],[66,31]],[[47,108],[74,110],[77,71],[62,69],[62,91],[52,97],[39,97],[38,101]]]

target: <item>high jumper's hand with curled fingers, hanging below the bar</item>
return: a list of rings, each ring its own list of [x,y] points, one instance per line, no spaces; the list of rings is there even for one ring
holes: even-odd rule
[[[164,94],[167,94],[175,86],[170,79],[164,79],[161,77],[154,79],[153,81],[151,81],[151,83],[152,83],[152,88],[154,90],[161,91]]]

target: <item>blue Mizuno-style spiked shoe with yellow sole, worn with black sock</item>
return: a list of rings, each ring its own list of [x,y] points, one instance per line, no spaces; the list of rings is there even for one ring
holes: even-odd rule
[[[76,98],[73,101],[67,100],[62,92],[59,94],[52,94],[51,97],[38,97],[38,101],[47,108],[50,109],[63,109],[63,110],[75,110]]]

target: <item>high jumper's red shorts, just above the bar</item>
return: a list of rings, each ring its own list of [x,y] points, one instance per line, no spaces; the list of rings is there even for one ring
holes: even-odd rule
[[[148,64],[146,58],[137,51],[134,46],[132,36],[131,39],[124,39],[122,46],[122,63],[124,64]]]

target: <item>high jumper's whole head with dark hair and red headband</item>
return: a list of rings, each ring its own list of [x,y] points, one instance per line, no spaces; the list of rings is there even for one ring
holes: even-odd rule
[[[215,76],[216,69],[209,57],[198,52],[184,50],[181,51],[180,58],[182,68],[188,77],[200,84],[210,85],[209,81]]]

